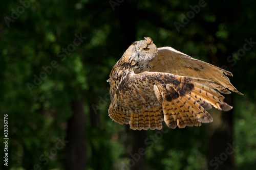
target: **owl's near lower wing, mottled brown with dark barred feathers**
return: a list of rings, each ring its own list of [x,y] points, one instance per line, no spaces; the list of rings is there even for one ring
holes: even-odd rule
[[[214,90],[215,82],[175,76],[164,72],[129,74],[113,94],[109,116],[133,130],[200,126],[212,122],[206,111],[211,105],[224,111],[232,109]]]

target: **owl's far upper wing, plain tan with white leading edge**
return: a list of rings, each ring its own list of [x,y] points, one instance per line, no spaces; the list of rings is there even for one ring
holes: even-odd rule
[[[219,85],[216,86],[216,89],[222,93],[229,94],[231,93],[229,90],[231,90],[242,94],[230,83],[226,76],[233,76],[231,72],[194,59],[172,47],[158,48],[157,60],[150,71],[168,72],[179,76],[207,79]]]

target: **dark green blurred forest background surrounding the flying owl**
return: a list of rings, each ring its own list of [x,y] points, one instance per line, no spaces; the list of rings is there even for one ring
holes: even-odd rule
[[[255,169],[255,1],[0,1],[7,169]],[[133,131],[108,116],[110,71],[151,37],[232,72],[245,95],[211,124]],[[79,38],[77,38],[79,37]],[[4,137],[0,139],[3,158]]]

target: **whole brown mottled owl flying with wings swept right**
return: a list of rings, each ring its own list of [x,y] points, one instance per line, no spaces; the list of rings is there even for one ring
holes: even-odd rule
[[[225,76],[231,72],[144,39],[132,43],[107,80],[115,122],[133,130],[162,129],[162,121],[172,129],[201,126],[212,122],[211,106],[232,109],[220,92],[243,95]]]

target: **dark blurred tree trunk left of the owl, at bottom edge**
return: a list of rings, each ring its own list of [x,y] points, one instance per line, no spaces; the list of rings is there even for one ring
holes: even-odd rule
[[[86,167],[86,152],[84,146],[84,102],[71,102],[73,115],[68,120],[65,169],[84,170]]]

